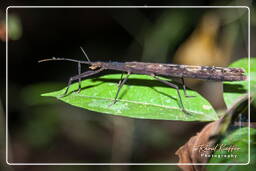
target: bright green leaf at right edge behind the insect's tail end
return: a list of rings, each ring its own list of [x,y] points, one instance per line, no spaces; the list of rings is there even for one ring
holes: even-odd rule
[[[234,63],[232,63],[229,67],[238,67],[244,68],[248,76],[248,58],[242,58]],[[248,84],[250,81],[251,91],[255,92],[256,90],[256,68],[253,67],[253,64],[256,64],[256,58],[251,58],[250,60],[250,80],[245,81],[234,81],[234,82],[224,82],[224,100],[228,107],[231,107],[234,103],[234,100],[239,99],[241,96],[248,92]]]

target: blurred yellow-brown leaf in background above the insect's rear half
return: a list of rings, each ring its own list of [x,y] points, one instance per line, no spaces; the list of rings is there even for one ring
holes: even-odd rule
[[[217,13],[206,13],[189,38],[177,49],[174,61],[179,64],[226,66],[230,59],[227,45],[218,42],[221,17]],[[227,40],[228,37],[225,36]],[[229,48],[230,49],[230,48]]]

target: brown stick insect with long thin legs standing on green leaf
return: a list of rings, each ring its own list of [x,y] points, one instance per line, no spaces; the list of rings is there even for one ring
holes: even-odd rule
[[[176,84],[173,84],[167,80],[163,80],[158,76],[165,77],[174,77],[180,78],[183,85],[183,91],[185,97],[188,96],[186,93],[186,86],[184,78],[194,78],[201,80],[213,80],[213,81],[243,81],[246,80],[244,75],[244,70],[242,68],[226,68],[226,67],[214,67],[214,66],[193,66],[193,65],[178,65],[178,64],[160,64],[160,63],[144,63],[144,62],[91,62],[85,51],[80,47],[83,54],[85,55],[87,61],[68,59],[68,58],[50,58],[43,59],[38,62],[45,61],[71,61],[78,64],[78,75],[72,76],[68,81],[68,86],[65,90],[63,96],[67,95],[70,85],[73,81],[78,81],[78,93],[81,90],[81,79],[95,75],[102,72],[103,70],[116,70],[121,72],[126,72],[127,75],[123,78],[123,73],[121,74],[121,79],[118,83],[118,90],[114,98],[113,104],[117,102],[118,94],[127,82],[128,77],[131,74],[143,74],[149,75],[154,79],[175,88],[179,97],[179,102],[181,110],[185,113],[188,113],[183,105],[181,95],[179,92],[179,87]],[[90,65],[91,70],[81,72],[81,64]]]

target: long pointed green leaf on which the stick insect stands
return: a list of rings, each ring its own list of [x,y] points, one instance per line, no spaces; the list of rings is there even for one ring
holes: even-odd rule
[[[80,93],[74,92],[78,84],[72,84],[68,95],[61,97],[65,89],[43,96],[56,97],[68,104],[84,109],[143,119],[212,121],[218,116],[212,106],[198,93],[188,90],[193,98],[186,98],[181,91],[184,107],[189,114],[182,112],[176,89],[170,88],[146,75],[130,75],[128,82],[113,104],[120,74],[105,75],[82,81]]]

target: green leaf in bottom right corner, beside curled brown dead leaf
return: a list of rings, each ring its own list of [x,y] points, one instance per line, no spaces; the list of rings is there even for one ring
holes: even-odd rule
[[[246,164],[249,162],[248,158],[248,131],[250,130],[250,165],[247,166],[208,166],[208,170],[230,170],[230,171],[235,171],[235,170],[253,170],[256,162],[256,129],[254,128],[240,128],[234,131],[232,134],[228,135],[226,138],[224,138],[220,144],[226,145],[226,147],[230,146],[236,146],[240,148],[239,150],[234,150],[234,151],[227,151],[227,150],[216,150],[213,155],[222,155],[220,157],[211,157],[209,160],[209,163],[243,163]],[[231,157],[230,155],[233,154],[236,155],[236,157]],[[226,155],[224,157],[223,155]],[[227,157],[227,156],[230,157]]]

